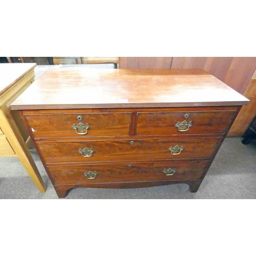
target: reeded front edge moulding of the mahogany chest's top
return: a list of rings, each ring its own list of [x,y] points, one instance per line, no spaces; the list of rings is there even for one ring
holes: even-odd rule
[[[179,102],[179,103],[112,103],[112,104],[57,104],[57,105],[11,105],[12,110],[41,110],[41,109],[125,109],[125,108],[182,108],[193,106],[242,106],[247,105],[247,101],[231,101],[231,102]]]

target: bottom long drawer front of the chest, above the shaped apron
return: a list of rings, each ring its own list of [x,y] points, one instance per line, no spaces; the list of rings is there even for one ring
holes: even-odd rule
[[[56,185],[200,179],[208,161],[51,166]]]

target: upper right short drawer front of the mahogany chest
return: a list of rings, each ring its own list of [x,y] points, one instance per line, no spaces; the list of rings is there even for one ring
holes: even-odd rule
[[[136,135],[223,134],[236,111],[138,113]]]

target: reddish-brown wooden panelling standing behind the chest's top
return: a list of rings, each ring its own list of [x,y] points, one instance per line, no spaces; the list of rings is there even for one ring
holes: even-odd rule
[[[123,69],[203,69],[243,94],[256,57],[120,57]]]

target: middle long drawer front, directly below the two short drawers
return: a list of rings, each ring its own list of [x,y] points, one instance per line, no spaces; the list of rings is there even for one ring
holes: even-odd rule
[[[221,138],[140,139],[38,142],[37,145],[46,163],[82,163],[211,158],[220,140]]]

